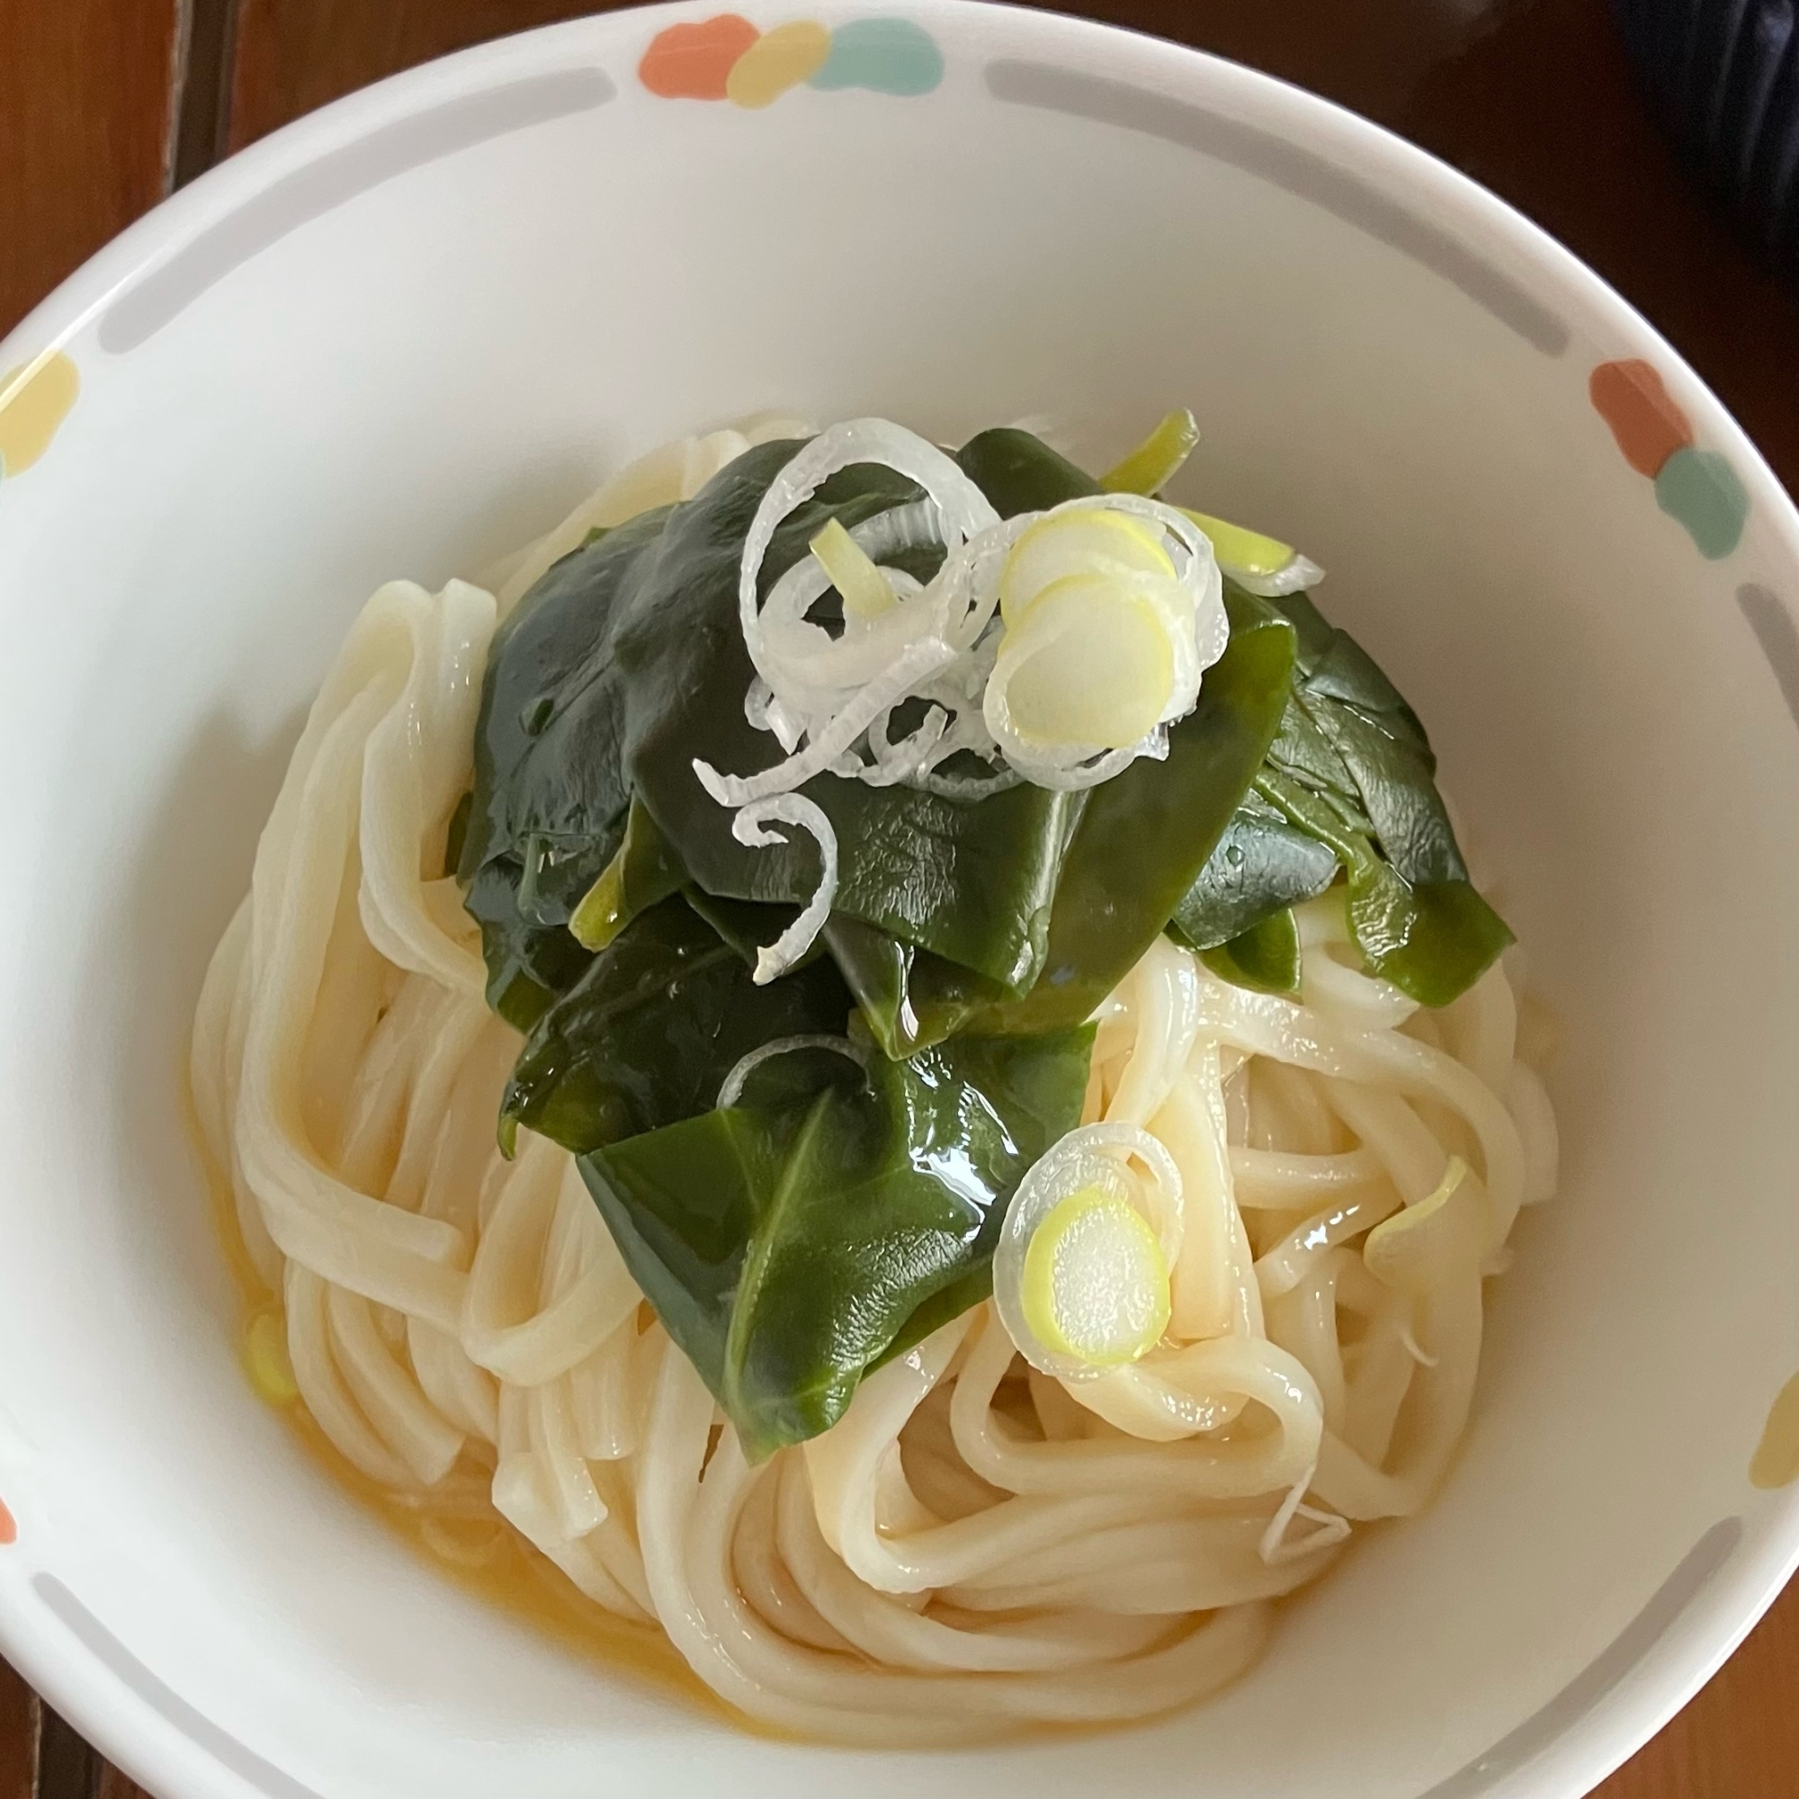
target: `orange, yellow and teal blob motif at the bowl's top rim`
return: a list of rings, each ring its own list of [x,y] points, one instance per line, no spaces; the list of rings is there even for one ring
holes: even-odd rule
[[[943,81],[943,52],[908,18],[855,18],[837,31],[810,18],[757,31],[738,13],[657,32],[637,77],[669,101],[730,101],[757,112],[792,88],[865,88],[910,97]]]

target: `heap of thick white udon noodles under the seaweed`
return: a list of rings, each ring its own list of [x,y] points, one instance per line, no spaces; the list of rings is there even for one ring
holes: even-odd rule
[[[1272,1601],[1423,1506],[1468,1419],[1482,1279],[1556,1180],[1495,964],[1441,1013],[1301,910],[1302,1000],[1159,939],[1103,1006],[1087,1121],[1180,1171],[1173,1313],[1060,1382],[991,1304],[750,1466],[572,1157],[495,1115],[520,1038],[439,878],[497,619],[594,524],[693,493],[745,437],[628,471],[489,592],[381,588],[331,669],[198,1007],[192,1085],[279,1297],[299,1398],[381,1490],[491,1518],[725,1702],[838,1741],[1117,1722],[1241,1673]],[[1378,1279],[1373,1227],[1479,1177],[1477,1254]]]

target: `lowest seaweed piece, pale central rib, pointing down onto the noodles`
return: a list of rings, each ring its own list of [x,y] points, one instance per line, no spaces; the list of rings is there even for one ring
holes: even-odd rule
[[[736,1106],[581,1157],[748,1457],[829,1428],[914,1320],[984,1295],[1006,1202],[1079,1119],[1090,1045],[1087,1027],[959,1036],[865,1074],[784,1056]]]

